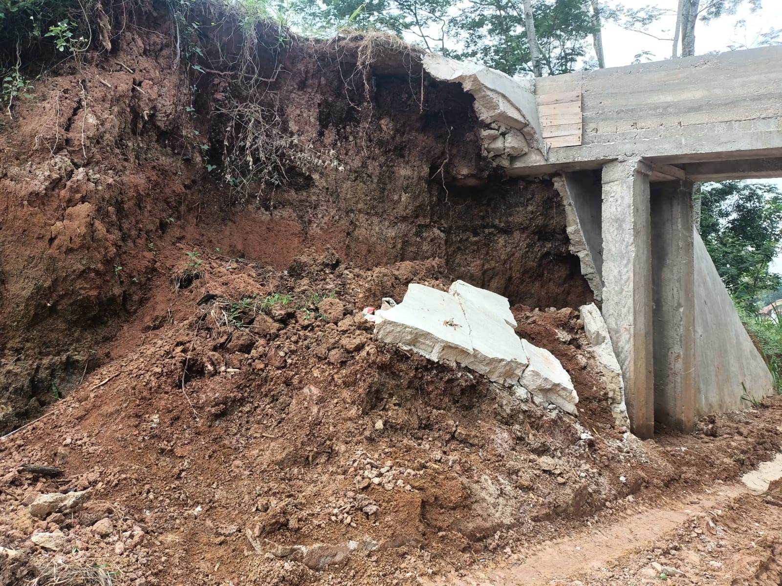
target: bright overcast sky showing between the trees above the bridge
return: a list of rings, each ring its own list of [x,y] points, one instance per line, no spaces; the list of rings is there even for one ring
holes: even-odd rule
[[[624,5],[630,8],[640,8],[648,5],[649,0],[624,0]],[[648,33],[658,38],[673,38],[672,30],[676,24],[677,0],[661,0],[657,2],[660,8],[670,8],[671,15],[649,27]],[[741,24],[744,21],[744,24]],[[708,52],[723,52],[730,50],[730,45],[754,47],[760,35],[770,28],[782,28],[782,0],[763,0],[762,8],[751,13],[748,6],[738,10],[734,16],[723,16],[712,23],[699,22],[695,28],[695,52],[699,55]],[[632,32],[618,27],[614,23],[606,23],[603,30],[603,48],[605,65],[618,67],[633,62],[635,55],[651,51],[652,61],[669,59],[673,48],[672,41],[658,41],[647,34]],[[769,63],[769,67],[782,67],[782,63]],[[782,177],[782,170],[780,170]],[[765,180],[782,188],[782,179]],[[771,269],[782,273],[782,255],[777,256]]]

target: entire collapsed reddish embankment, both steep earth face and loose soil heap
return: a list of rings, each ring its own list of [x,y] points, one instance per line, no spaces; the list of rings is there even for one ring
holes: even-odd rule
[[[687,451],[615,427],[557,192],[494,170],[411,48],[109,8],[0,127],[0,428],[56,403],[0,441],[5,583],[410,583],[777,448],[773,416]],[[455,278],[510,298],[577,417],[361,318]]]

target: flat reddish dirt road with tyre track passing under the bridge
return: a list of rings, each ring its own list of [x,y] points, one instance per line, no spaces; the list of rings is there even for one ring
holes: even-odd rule
[[[542,584],[780,584],[782,501],[766,492],[780,462],[760,466],[744,482],[633,507],[611,523],[547,541],[533,551],[467,577],[433,584],[538,586]],[[753,490],[753,488],[755,490]],[[761,489],[761,490],[757,490]],[[778,493],[777,493],[778,494]]]

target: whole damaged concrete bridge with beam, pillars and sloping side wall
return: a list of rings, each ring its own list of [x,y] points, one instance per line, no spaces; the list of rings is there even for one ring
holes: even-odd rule
[[[773,392],[693,227],[695,181],[782,177],[782,47],[519,80],[435,55],[510,177],[554,177],[633,432],[690,431]]]

